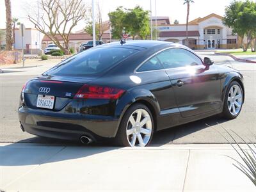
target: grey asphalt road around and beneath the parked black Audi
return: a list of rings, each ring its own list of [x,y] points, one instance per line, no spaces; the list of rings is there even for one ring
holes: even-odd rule
[[[203,52],[200,54],[202,54],[202,56],[209,56],[219,65],[230,64],[233,66],[241,66],[241,64],[243,64],[236,63],[227,57],[214,56],[211,52]],[[248,67],[243,70],[243,66],[239,68],[242,68],[241,72],[244,75],[246,99],[238,118],[227,121],[218,116],[212,116],[197,122],[166,129],[154,135],[152,145],[160,146],[168,143],[227,143],[225,138],[220,134],[220,132],[225,134],[223,128],[230,132],[236,132],[246,140],[250,139],[255,141],[252,132],[256,133],[256,70],[248,70]],[[70,143],[68,141],[40,138],[21,131],[17,118],[20,90],[22,85],[33,76],[17,76],[12,72],[8,74],[8,76],[1,76],[0,74],[0,142],[76,145],[76,143]],[[227,136],[227,134],[225,135]]]

